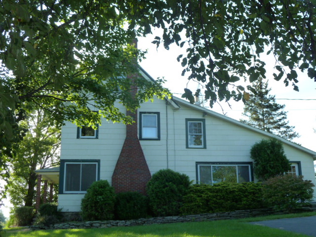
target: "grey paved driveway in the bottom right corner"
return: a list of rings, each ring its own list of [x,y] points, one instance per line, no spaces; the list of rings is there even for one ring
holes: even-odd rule
[[[250,223],[255,225],[264,225],[271,228],[284,229],[316,237],[316,216],[285,218]]]

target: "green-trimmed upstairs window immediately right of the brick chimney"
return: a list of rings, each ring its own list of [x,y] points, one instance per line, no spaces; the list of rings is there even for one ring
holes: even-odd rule
[[[139,139],[160,140],[160,113],[139,112]]]

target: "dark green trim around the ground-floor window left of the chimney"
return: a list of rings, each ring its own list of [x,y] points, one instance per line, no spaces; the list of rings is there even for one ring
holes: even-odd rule
[[[96,180],[100,180],[100,160],[60,160],[59,194],[82,194],[86,191],[65,191],[65,167],[67,164],[96,164]]]

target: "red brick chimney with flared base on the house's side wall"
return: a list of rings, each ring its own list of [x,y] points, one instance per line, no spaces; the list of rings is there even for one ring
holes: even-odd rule
[[[134,44],[137,47],[137,41]],[[133,81],[137,76],[132,74],[128,78]],[[136,85],[132,84],[131,93],[136,95]],[[151,175],[137,136],[137,110],[126,110],[126,115],[131,116],[135,123],[126,125],[126,138],[112,175],[112,186],[117,193],[136,191],[146,194],[146,185]]]

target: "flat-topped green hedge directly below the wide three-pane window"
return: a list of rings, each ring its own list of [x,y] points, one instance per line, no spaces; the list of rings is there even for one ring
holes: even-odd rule
[[[181,214],[263,208],[261,183],[193,185],[184,197]]]

